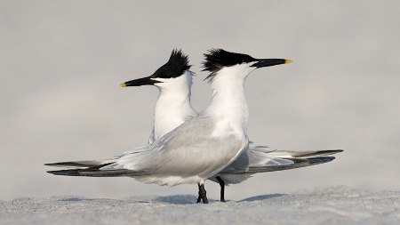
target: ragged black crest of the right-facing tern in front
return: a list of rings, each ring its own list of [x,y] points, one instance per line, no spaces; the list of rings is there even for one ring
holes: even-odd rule
[[[204,58],[203,71],[211,72],[206,79],[214,76],[221,68],[256,61],[256,59],[252,58],[250,55],[227,52],[223,49],[211,49],[204,54]]]

